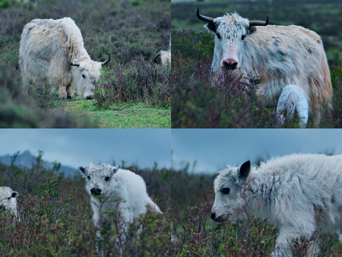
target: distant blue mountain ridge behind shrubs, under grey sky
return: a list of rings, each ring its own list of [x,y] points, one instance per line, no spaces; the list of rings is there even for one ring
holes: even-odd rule
[[[11,166],[11,155],[0,156],[0,162],[7,166]],[[31,168],[32,165],[34,165],[35,163],[36,163],[36,157],[31,155],[29,151],[25,151],[22,154],[18,155],[18,157],[15,159],[14,165],[18,167]],[[45,169],[52,169],[53,163],[42,160],[42,166]],[[64,172],[66,176],[68,175],[74,176],[77,170],[69,166],[61,165],[61,168],[58,170],[58,172]]]

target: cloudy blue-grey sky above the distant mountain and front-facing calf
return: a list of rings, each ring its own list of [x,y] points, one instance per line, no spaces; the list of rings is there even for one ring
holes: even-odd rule
[[[171,129],[1,129],[0,156],[29,150],[43,160],[77,168],[124,160],[141,168],[171,166]]]

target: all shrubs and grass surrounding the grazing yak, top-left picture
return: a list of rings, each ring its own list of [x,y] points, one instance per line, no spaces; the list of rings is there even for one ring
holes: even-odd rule
[[[170,16],[170,3],[157,0],[0,1],[0,127],[170,128],[170,65],[153,63],[169,45]],[[21,84],[22,28],[50,17],[75,20],[92,60],[110,52],[94,99],[61,101],[49,85]]]

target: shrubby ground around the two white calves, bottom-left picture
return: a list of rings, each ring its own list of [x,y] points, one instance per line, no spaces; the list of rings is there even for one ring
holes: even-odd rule
[[[9,186],[20,194],[19,220],[4,215],[1,209],[1,256],[102,256],[96,246],[103,249],[103,256],[171,256],[170,170],[157,165],[140,169],[122,162],[121,168],[144,178],[149,196],[163,214],[148,211],[127,228],[126,241],[118,246],[116,240],[123,236],[119,223],[104,225],[101,240],[96,239],[84,179],[79,174],[65,177],[58,172],[60,163],[47,170],[41,166],[41,158],[40,153],[32,167],[27,168],[0,163],[0,186]],[[114,222],[120,218],[119,212],[107,215]],[[103,217],[104,224],[106,221]],[[137,231],[141,231],[139,237]]]

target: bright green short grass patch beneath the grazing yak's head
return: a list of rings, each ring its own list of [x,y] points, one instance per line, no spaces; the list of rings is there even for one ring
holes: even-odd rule
[[[116,103],[99,111],[95,100],[67,100],[65,110],[72,114],[86,114],[104,129],[167,129],[171,128],[171,107],[147,108],[145,103]]]

